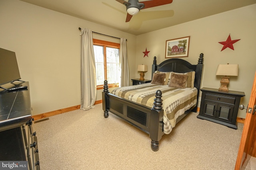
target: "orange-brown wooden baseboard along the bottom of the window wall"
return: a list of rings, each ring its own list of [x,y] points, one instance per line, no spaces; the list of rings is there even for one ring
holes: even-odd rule
[[[95,104],[100,104],[100,103],[102,103],[102,100],[95,101],[94,105]],[[34,121],[36,121],[36,120],[39,120],[39,119],[44,119],[46,117],[58,115],[58,114],[65,113],[65,112],[68,112],[68,111],[73,111],[73,110],[76,110],[76,109],[80,109],[80,105],[72,106],[72,107],[67,107],[67,108],[59,109],[59,110],[55,110],[55,111],[49,111],[47,113],[42,113],[42,114],[39,114],[39,115],[34,115],[32,117],[34,118]]]

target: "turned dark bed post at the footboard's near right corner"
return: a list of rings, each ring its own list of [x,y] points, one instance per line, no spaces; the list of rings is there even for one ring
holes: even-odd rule
[[[151,109],[150,116],[150,133],[149,137],[151,139],[151,149],[153,151],[158,151],[159,149],[159,141],[164,135],[163,132],[163,117],[164,110],[162,109],[162,92],[161,90],[156,91],[156,98],[154,99],[154,105]]]

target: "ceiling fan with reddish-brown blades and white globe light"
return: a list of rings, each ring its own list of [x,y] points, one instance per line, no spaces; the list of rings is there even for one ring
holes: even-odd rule
[[[138,0],[128,0],[128,2],[124,0],[116,1],[126,6],[126,22],[129,22],[132,16],[138,14],[140,10],[172,3],[172,0],[147,0],[142,2],[139,2]]]

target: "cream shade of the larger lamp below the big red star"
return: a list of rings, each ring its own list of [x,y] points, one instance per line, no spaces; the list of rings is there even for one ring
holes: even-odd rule
[[[216,76],[238,76],[238,64],[219,64]]]

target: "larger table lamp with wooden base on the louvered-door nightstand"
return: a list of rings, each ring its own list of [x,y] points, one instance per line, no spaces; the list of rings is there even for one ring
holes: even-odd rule
[[[238,76],[238,64],[219,64],[216,76],[224,76],[220,80],[219,91],[228,92],[229,77],[227,76]]]

